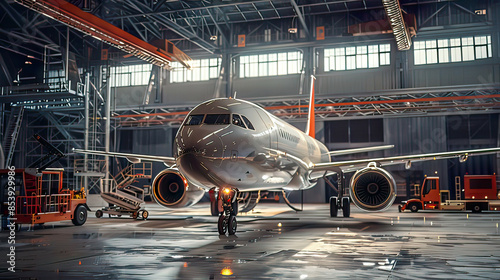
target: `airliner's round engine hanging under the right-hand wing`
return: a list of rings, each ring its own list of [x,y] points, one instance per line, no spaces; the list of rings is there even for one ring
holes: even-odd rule
[[[358,170],[350,182],[351,200],[367,211],[382,211],[396,199],[396,182],[392,175],[374,163]]]

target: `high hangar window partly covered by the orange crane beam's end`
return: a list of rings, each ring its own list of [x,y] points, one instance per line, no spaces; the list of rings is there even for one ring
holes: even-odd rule
[[[179,62],[172,62],[170,71],[171,83],[183,83],[188,81],[208,81],[219,77],[220,58],[196,59],[191,61],[191,70],[182,66]]]

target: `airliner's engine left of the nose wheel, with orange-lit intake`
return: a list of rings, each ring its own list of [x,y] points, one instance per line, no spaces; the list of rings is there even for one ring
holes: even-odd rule
[[[205,191],[190,185],[177,169],[165,169],[153,181],[153,198],[156,203],[169,207],[189,207],[201,200]]]

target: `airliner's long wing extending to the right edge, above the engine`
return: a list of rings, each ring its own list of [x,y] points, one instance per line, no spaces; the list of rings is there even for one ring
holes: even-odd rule
[[[430,153],[430,154],[420,154],[420,155],[395,156],[387,158],[358,159],[358,160],[336,161],[336,162],[334,161],[328,163],[314,164],[314,166],[311,167],[310,169],[312,171],[332,171],[341,168],[344,172],[350,172],[365,167],[370,162],[376,162],[377,166],[406,164],[406,168],[410,168],[412,162],[448,159],[455,157],[458,157],[461,162],[464,162],[467,160],[469,156],[486,155],[498,152],[500,152],[500,148],[487,148],[487,149]]]

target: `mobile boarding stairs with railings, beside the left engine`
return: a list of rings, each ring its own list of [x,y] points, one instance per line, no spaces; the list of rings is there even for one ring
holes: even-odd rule
[[[106,202],[126,210],[138,210],[144,203],[144,190],[131,184],[137,179],[150,179],[152,167],[150,162],[134,163],[101,186],[101,197]],[[107,184],[106,184],[107,183]]]

